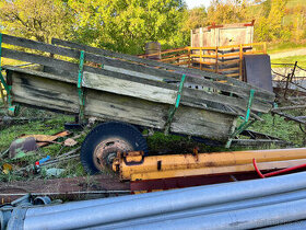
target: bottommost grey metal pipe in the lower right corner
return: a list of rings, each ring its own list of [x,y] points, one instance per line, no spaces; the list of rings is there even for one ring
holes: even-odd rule
[[[117,229],[256,229],[267,226],[292,222],[305,219],[305,217],[306,199],[298,199],[269,206],[260,206],[211,215],[188,216],[185,218],[174,218],[165,221],[149,222]]]

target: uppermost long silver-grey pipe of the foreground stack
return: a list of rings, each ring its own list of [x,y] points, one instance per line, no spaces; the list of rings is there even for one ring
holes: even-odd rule
[[[76,229],[197,207],[280,194],[306,187],[306,172],[278,177],[200,186],[154,197],[28,217],[24,229]],[[306,204],[305,204],[306,205]],[[306,211],[306,209],[305,209]]]

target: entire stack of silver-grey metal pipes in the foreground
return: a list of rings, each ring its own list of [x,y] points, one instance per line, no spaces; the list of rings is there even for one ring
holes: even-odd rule
[[[16,208],[8,229],[301,229],[304,219],[306,172]]]

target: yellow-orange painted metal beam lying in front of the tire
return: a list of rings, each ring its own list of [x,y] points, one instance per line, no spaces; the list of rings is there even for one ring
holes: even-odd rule
[[[233,166],[251,164],[252,159],[256,159],[258,163],[306,159],[306,148],[214,152],[196,156],[190,153],[142,157],[133,152],[132,156],[127,153],[126,157],[116,158],[113,170],[119,172],[121,180],[131,180],[133,174],[156,172],[160,177],[172,177],[175,174],[177,176],[196,175],[221,170],[217,168],[224,168],[223,170],[228,168],[227,170],[235,172],[235,169],[238,170],[239,166]],[[209,168],[211,168],[210,171]],[[181,173],[183,171],[186,174]]]

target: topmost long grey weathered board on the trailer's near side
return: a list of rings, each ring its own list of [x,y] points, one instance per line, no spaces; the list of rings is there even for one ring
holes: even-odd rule
[[[44,43],[31,41],[31,39],[4,35],[4,34],[3,34],[3,43],[22,46],[22,47],[26,47],[26,48],[32,48],[32,49],[36,49],[36,50],[42,50],[42,51],[46,51],[46,53],[52,53],[52,54],[67,56],[67,57],[71,57],[71,58],[76,58],[76,59],[80,57],[80,51],[75,50],[75,49],[58,47],[58,46],[54,46],[54,45],[49,45],[49,44],[44,44]],[[152,77],[154,79],[154,76],[155,76],[155,77],[158,77],[157,79],[160,79],[160,80],[162,78],[172,78],[172,79],[180,80],[180,74],[175,73],[175,72],[158,70],[155,68],[145,67],[143,65],[130,64],[127,61],[116,60],[116,59],[96,56],[96,55],[92,55],[92,54],[85,54],[85,57],[86,57],[86,60],[89,60],[89,61],[106,65],[106,68],[107,68],[107,66],[114,67],[114,68],[111,68],[111,71],[117,71],[117,72],[127,73],[130,76],[148,78],[148,79],[150,79],[150,78],[152,79]],[[130,70],[130,71],[127,71],[127,70]],[[144,73],[144,74],[140,74],[140,73]],[[211,82],[209,80],[195,78],[192,76],[189,76],[189,78],[187,78],[187,82],[205,84],[205,85],[209,85],[210,88],[214,88],[216,90],[221,90],[224,92],[236,93],[242,96],[247,95],[248,91],[249,91],[248,89],[244,89],[240,87],[235,88],[231,84]],[[264,100],[271,100],[271,99],[273,100],[273,97],[271,97],[271,96],[273,96],[273,95],[271,95],[271,93],[269,94],[269,93],[261,92],[261,91],[257,91],[256,96],[263,97]]]

